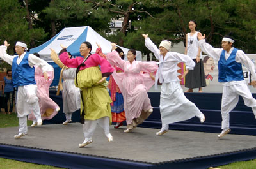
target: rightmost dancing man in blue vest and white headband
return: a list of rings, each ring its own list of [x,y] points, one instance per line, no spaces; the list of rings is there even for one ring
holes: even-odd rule
[[[229,113],[236,107],[239,95],[244,99],[246,106],[252,107],[256,118],[256,100],[244,80],[242,64],[252,73],[253,87],[256,87],[255,66],[242,50],[233,47],[235,41],[230,35],[225,35],[222,39],[222,48],[213,48],[205,42],[205,35],[202,36],[201,33],[198,33],[198,39],[203,52],[218,61],[218,80],[223,84],[221,100],[222,131],[218,135],[221,138],[231,131],[229,128]]]

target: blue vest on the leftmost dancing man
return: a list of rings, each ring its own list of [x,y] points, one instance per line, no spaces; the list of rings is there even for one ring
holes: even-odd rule
[[[13,87],[36,84],[35,68],[31,68],[28,64],[28,53],[24,55],[20,64],[17,64],[19,56],[14,57],[12,61],[12,83]]]

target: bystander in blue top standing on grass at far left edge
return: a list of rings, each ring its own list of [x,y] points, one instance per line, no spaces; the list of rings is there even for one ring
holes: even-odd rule
[[[3,84],[3,96],[4,96],[4,114],[12,114],[13,108],[13,98],[14,98],[14,89],[12,85],[12,70],[6,71],[7,76],[4,77],[4,84]],[[8,101],[10,103],[10,108],[8,111]]]

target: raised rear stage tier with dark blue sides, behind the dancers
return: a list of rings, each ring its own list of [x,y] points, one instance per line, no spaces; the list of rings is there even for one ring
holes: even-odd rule
[[[252,92],[256,91],[252,86],[249,86]],[[182,85],[182,89],[187,89]],[[185,93],[186,98],[195,103],[206,117],[204,124],[201,124],[198,118],[194,117],[188,121],[177,122],[170,124],[170,129],[184,130],[184,131],[202,131],[207,133],[220,133],[221,132],[221,98],[222,98],[222,85],[209,85],[203,88],[203,93],[196,92]],[[154,87],[148,91],[148,96],[151,100],[154,112],[148,119],[140,125],[145,128],[161,128],[161,116],[159,110],[161,85],[158,90]],[[60,124],[65,121],[65,114],[62,113],[62,96],[56,96],[56,91],[50,91],[51,98],[60,106],[60,112],[51,120],[45,121],[45,124]],[[253,93],[256,98],[256,94]],[[188,110],[189,111],[189,110]],[[79,111],[72,114],[72,121],[79,122]],[[237,107],[230,112],[230,128],[232,134],[239,135],[256,135],[256,120],[253,115],[252,108],[244,105],[243,99],[239,98]]]

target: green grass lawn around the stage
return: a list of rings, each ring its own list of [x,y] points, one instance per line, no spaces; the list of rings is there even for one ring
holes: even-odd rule
[[[31,125],[33,122],[28,121],[28,126]],[[0,128],[7,128],[19,126],[19,119],[17,118],[17,114],[1,114],[0,113]],[[18,132],[18,131],[17,131]],[[13,138],[14,139],[14,138]],[[49,169],[49,168],[58,168],[54,166],[47,166],[47,165],[36,165],[33,163],[25,163],[21,161],[15,161],[11,159],[4,159],[0,158],[0,168],[1,169]],[[224,166],[216,166],[216,168],[221,169],[255,169],[256,168],[256,159],[250,161],[242,161],[236,162],[229,165]]]

